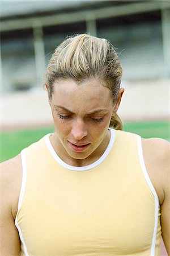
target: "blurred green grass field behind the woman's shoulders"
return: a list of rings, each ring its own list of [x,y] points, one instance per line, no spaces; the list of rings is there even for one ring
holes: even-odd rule
[[[124,130],[137,133],[143,138],[159,137],[170,141],[169,122],[133,122],[124,123]],[[14,157],[29,144],[38,141],[47,133],[53,133],[53,127],[44,129],[6,131],[0,134],[1,162]]]

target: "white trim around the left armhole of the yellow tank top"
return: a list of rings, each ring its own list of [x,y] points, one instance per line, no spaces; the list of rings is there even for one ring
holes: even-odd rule
[[[26,179],[27,179],[27,164],[26,164],[24,150],[22,150],[20,152],[20,155],[21,155],[21,158],[22,158],[22,185],[21,185],[21,189],[20,189],[20,195],[19,195],[19,200],[18,200],[18,210],[17,210],[17,213],[16,213],[16,217],[18,216],[19,209],[22,205],[24,192],[25,192],[25,184],[26,184]]]

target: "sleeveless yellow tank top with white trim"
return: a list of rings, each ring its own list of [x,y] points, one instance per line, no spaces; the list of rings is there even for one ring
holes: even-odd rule
[[[141,137],[111,129],[96,162],[63,162],[50,134],[22,151],[15,225],[26,256],[159,256],[160,213]]]

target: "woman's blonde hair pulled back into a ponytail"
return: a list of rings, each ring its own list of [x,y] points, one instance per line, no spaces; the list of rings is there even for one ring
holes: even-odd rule
[[[75,35],[64,40],[54,51],[45,73],[45,82],[52,97],[53,84],[59,79],[81,82],[97,77],[111,90],[113,103],[120,90],[122,68],[112,44],[88,34]],[[118,115],[111,118],[110,127],[122,130]]]

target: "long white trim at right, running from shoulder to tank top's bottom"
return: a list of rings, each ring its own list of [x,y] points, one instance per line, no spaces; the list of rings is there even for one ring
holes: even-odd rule
[[[148,187],[150,187],[150,190],[155,197],[155,226],[154,226],[154,233],[153,233],[152,245],[151,245],[151,256],[155,256],[156,232],[158,228],[158,214],[159,214],[159,198],[145,166],[145,161],[143,158],[143,150],[142,150],[142,138],[141,136],[137,135],[137,139],[138,139],[138,153],[139,153],[139,159],[141,162],[143,175],[145,176]]]

